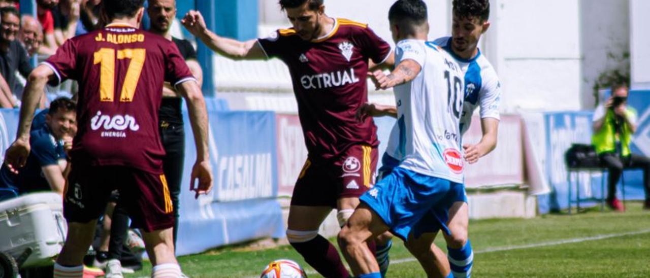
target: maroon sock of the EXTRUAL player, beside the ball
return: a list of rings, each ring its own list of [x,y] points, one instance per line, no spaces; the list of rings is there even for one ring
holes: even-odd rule
[[[348,273],[341,261],[341,257],[339,257],[339,251],[320,234],[308,242],[292,242],[291,246],[320,275],[324,277],[350,277],[350,273]]]

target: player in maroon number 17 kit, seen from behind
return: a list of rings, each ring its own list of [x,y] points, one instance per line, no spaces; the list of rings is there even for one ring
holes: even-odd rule
[[[18,137],[7,151],[14,169],[29,153],[30,118],[45,82],[79,82],[79,128],[64,196],[69,230],[55,277],[81,277],[96,220],[114,189],[129,204],[133,225],[144,232],[153,275],[180,275],[157,126],[165,81],[174,84],[188,103],[198,154],[191,180],[199,179],[199,185],[194,190],[199,194],[211,188],[207,113],[200,88],[173,42],[138,29],[143,2],[107,1],[105,11],[112,23],[68,40],[34,69],[23,95]]]

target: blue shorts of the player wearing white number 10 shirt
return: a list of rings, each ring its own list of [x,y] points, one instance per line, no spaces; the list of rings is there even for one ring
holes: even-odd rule
[[[461,183],[397,167],[359,200],[406,241],[409,233],[415,238],[441,229],[451,234],[447,227],[449,209],[456,202],[467,203],[467,196]]]

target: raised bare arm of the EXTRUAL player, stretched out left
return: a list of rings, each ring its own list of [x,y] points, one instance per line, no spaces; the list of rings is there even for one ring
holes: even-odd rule
[[[233,60],[263,60],[266,55],[262,47],[257,44],[257,40],[248,40],[240,42],[231,38],[224,38],[209,31],[205,25],[205,20],[201,12],[190,10],[181,20],[187,31],[199,38],[203,44],[207,45],[220,55]]]

